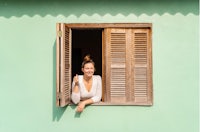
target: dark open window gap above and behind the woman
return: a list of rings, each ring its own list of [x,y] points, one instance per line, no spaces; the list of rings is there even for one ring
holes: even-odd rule
[[[81,64],[87,54],[95,62],[95,74],[102,76],[102,29],[72,29],[72,77],[83,74]]]

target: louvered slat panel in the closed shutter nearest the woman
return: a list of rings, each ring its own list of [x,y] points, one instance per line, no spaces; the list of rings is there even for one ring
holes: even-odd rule
[[[125,35],[123,31],[111,31],[111,102],[125,101]]]

